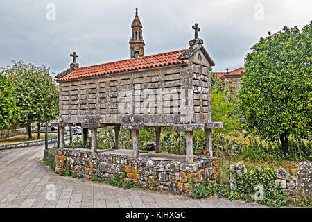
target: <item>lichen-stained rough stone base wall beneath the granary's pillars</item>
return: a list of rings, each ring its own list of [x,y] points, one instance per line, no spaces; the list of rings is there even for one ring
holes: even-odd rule
[[[175,160],[92,153],[87,149],[58,150],[55,171],[61,173],[68,169],[87,178],[94,174],[103,180],[109,180],[116,173],[125,173],[125,180],[176,194],[189,194],[192,183],[213,181],[217,173],[214,160],[198,160],[187,164]]]

